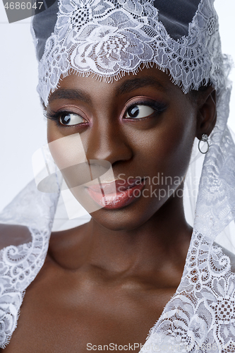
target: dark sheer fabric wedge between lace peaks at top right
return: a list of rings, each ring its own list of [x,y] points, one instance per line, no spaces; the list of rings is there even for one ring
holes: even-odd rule
[[[174,40],[188,35],[188,24],[192,22],[200,0],[155,0],[159,20]]]

